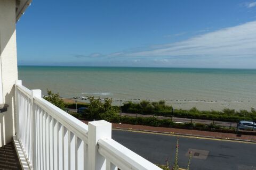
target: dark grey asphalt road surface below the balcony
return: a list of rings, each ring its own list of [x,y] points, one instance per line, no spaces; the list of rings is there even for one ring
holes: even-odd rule
[[[177,137],[130,131],[112,131],[113,139],[155,164],[172,165]],[[190,169],[256,170],[256,143],[179,137],[179,166],[187,167],[189,149],[194,150]]]

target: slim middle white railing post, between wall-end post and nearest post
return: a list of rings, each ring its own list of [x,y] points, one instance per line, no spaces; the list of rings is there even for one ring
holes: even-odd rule
[[[36,157],[38,156],[38,153],[37,153],[37,141],[36,141],[36,109],[34,107],[34,97],[38,97],[38,98],[41,98],[42,97],[42,91],[41,90],[31,90],[32,91],[32,96],[31,96],[31,120],[32,120],[32,155],[33,155],[33,159],[32,159],[32,166],[33,166],[33,169],[36,169],[37,167],[37,159]]]

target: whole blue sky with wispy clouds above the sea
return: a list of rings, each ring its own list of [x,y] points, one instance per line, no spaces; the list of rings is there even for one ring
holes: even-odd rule
[[[256,68],[256,1],[33,1],[19,65]]]

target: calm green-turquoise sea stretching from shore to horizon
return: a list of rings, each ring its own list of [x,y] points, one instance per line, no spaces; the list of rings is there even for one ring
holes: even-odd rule
[[[18,73],[29,89],[85,102],[95,96],[114,105],[165,100],[177,109],[256,108],[256,69],[18,66]]]

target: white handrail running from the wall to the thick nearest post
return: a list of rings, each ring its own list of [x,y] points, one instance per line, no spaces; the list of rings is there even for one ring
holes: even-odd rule
[[[17,84],[16,86],[18,90],[25,92],[25,95],[31,98],[31,91],[29,89],[19,84]],[[49,101],[46,101],[42,97],[34,97],[34,102],[38,106],[42,107],[53,118],[57,119],[61,124],[66,126],[71,132],[76,134],[77,137],[81,138],[87,143],[88,126],[85,123],[78,121],[75,117],[69,115],[68,113],[66,113],[59,107],[51,104]]]

